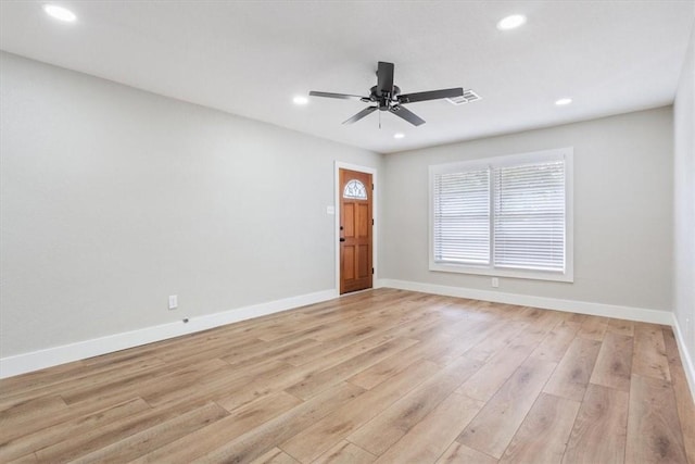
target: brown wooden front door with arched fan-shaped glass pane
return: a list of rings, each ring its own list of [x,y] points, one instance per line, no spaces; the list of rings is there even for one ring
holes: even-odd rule
[[[340,293],[371,288],[371,174],[340,170]]]

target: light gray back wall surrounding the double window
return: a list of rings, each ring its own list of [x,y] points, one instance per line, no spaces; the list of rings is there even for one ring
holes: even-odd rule
[[[581,102],[576,102],[581,104]],[[561,110],[558,110],[561,111]],[[672,111],[660,108],[386,156],[382,277],[408,283],[672,309]],[[428,269],[428,166],[574,148],[574,283]]]

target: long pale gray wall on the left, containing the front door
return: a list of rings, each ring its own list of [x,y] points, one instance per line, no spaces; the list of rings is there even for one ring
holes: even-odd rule
[[[0,358],[334,288],[333,163],[380,155],[0,60]]]

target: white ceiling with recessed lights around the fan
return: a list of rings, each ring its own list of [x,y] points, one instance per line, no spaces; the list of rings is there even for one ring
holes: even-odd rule
[[[670,104],[695,17],[692,0],[53,3],[77,22],[0,1],[0,48],[381,153]],[[495,27],[514,13],[527,24]],[[341,124],[359,101],[292,102],[366,96],[378,61],[395,63],[403,93],[464,87],[482,100],[412,103],[427,124],[384,113],[381,128],[381,112]]]

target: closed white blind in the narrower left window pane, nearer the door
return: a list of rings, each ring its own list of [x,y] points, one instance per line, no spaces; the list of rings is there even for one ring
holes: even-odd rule
[[[490,263],[490,171],[434,175],[434,259]]]

